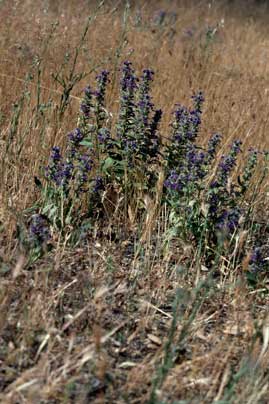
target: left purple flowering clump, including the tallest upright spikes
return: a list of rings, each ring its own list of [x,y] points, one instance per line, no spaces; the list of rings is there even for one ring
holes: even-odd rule
[[[95,204],[96,195],[101,197],[106,184],[118,183],[126,195],[134,194],[132,184],[138,183],[139,176],[143,176],[142,182],[151,181],[148,187],[154,184],[151,162],[158,159],[161,147],[158,129],[162,111],[152,103],[153,76],[152,70],[144,69],[138,78],[132,63],[123,63],[114,133],[105,108],[109,72],[103,70],[97,75],[96,89],[85,88],[77,128],[67,135],[65,151],[52,148],[45,168],[45,212],[53,212],[57,227],[71,223],[74,209],[79,212],[85,204]]]

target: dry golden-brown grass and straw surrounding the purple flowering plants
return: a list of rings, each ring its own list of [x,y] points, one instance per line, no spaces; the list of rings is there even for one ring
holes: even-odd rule
[[[100,67],[112,72],[112,114],[119,65],[131,59],[138,70],[156,72],[154,102],[165,112],[164,133],[174,104],[203,89],[202,142],[218,131],[226,144],[241,138],[245,150],[269,148],[269,10],[251,2],[210,4],[135,2],[129,10],[111,1],[95,10],[86,0],[0,3],[1,402],[142,403],[150,396],[151,404],[268,402],[266,280],[251,290],[242,269],[217,279],[201,271],[199,289],[197,268],[182,269],[194,255],[191,246],[165,242],[165,212],[151,211],[141,240],[108,229],[80,248],[58,245],[30,269],[15,239],[16,223],[26,220],[20,212],[38,198],[33,178],[50,147],[64,145],[82,90]],[[160,9],[170,19],[162,27],[153,24]],[[88,15],[94,18],[76,66],[88,75],[60,116],[63,88],[52,73],[70,72],[65,54],[74,54]],[[217,24],[204,49],[206,27]],[[21,108],[17,123],[14,102]],[[37,111],[37,103],[48,102]],[[267,184],[264,216],[266,191]],[[175,343],[170,353],[169,341]],[[174,365],[161,382],[167,353]]]

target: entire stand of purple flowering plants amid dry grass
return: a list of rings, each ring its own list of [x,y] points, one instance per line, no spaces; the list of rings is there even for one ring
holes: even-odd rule
[[[119,110],[113,121],[106,109],[109,72],[102,70],[97,75],[96,89],[85,88],[77,127],[67,135],[65,148],[51,149],[40,211],[56,229],[70,231],[84,219],[93,223],[101,211],[106,214],[103,195],[110,187],[122,193],[123,207],[136,204],[136,214],[143,215],[141,197],[143,193],[155,197],[158,175],[163,172],[160,203],[169,208],[170,225],[177,229],[178,237],[203,246],[205,256],[209,250],[220,254],[220,240],[225,240],[221,248],[228,245],[232,249],[240,231],[252,220],[246,194],[260,152],[249,150],[245,167],[236,176],[240,140],[234,140],[221,156],[219,133],[201,145],[202,91],[192,95],[191,107],[175,105],[171,133],[162,137],[163,113],[152,100],[153,79],[151,69],[144,69],[139,77],[130,61],[122,64]],[[124,209],[121,214],[127,215]],[[38,223],[34,222],[30,233],[45,241],[42,220]],[[249,245],[255,251],[255,242]],[[258,253],[254,255],[258,257]],[[254,258],[253,267],[258,259]]]

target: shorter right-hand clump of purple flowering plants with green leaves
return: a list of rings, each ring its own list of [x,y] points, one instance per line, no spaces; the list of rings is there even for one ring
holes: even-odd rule
[[[206,147],[199,145],[204,96],[192,96],[193,107],[176,105],[171,124],[171,141],[165,147],[165,201],[178,234],[208,248],[229,241],[247,226],[245,192],[257,165],[258,154],[251,151],[242,175],[234,180],[242,142],[235,140],[218,159],[222,136],[215,133]],[[227,242],[225,242],[227,245]],[[224,245],[223,245],[224,246]],[[223,247],[222,246],[222,247]],[[232,248],[232,247],[231,247]]]

